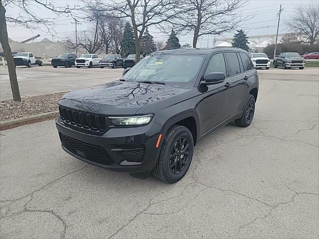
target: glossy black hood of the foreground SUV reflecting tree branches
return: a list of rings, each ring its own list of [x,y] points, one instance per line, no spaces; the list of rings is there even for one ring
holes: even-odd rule
[[[187,87],[114,81],[65,94],[59,105],[102,115],[134,115],[142,107],[162,104]],[[152,109],[152,107],[151,107]]]

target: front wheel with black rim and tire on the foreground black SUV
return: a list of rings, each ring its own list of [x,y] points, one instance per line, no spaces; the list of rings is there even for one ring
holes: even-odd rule
[[[187,154],[181,153],[181,150],[185,150]],[[164,138],[158,162],[152,170],[153,176],[165,183],[176,183],[186,174],[193,152],[194,141],[189,129],[173,125]]]

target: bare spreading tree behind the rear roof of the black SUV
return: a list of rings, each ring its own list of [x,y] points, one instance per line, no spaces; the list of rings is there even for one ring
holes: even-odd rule
[[[176,32],[193,34],[193,47],[203,35],[220,35],[235,29],[248,17],[242,17],[240,8],[246,0],[180,0],[174,21],[169,22]],[[167,28],[166,28],[167,29]]]

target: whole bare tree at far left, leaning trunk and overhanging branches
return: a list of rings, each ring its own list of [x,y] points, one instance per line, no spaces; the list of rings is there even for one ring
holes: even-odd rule
[[[37,16],[32,11],[32,7],[49,10],[55,14],[52,18],[42,18]],[[5,9],[14,7],[16,15],[6,15]],[[9,79],[11,85],[11,91],[13,101],[21,101],[19,92],[19,85],[15,72],[15,65],[11,53],[11,48],[8,43],[7,25],[9,26],[23,26],[28,29],[37,29],[40,25],[45,26],[48,32],[53,30],[53,26],[56,24],[55,20],[62,15],[66,16],[79,7],[69,8],[68,5],[65,7],[57,7],[51,0],[0,0],[0,42],[4,52],[4,56],[8,65]]]

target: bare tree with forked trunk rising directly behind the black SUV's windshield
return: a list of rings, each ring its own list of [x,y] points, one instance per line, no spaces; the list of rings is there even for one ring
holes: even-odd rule
[[[172,20],[179,12],[179,3],[175,0],[92,0],[88,8],[99,9],[106,15],[117,14],[121,18],[130,18],[132,21],[136,62],[140,60],[141,40],[147,27],[159,25],[165,21]],[[104,9],[101,10],[101,7]],[[174,9],[174,10],[173,10]]]

